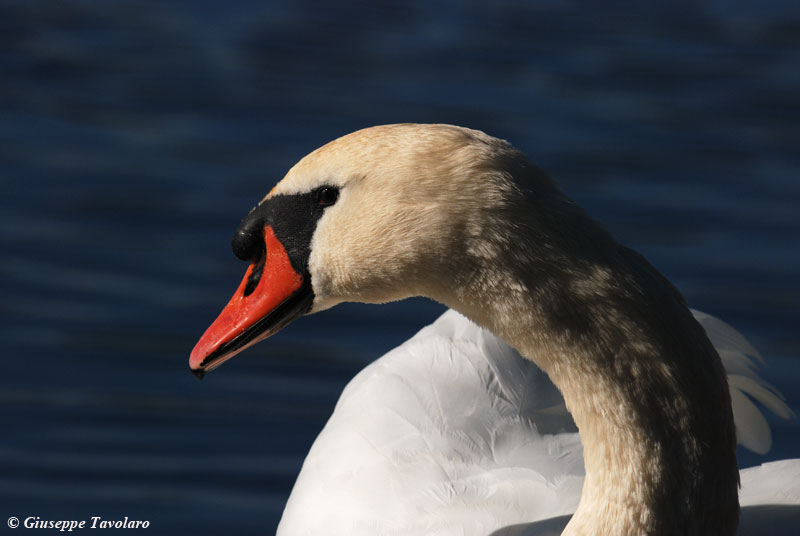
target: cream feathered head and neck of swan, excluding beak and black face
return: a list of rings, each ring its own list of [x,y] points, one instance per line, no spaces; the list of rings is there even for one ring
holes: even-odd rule
[[[312,153],[273,194],[341,187],[309,267],[314,310],[426,295],[515,346],[564,395],[586,481],[565,534],[732,535],[725,374],[680,294],[524,156],[394,125]]]

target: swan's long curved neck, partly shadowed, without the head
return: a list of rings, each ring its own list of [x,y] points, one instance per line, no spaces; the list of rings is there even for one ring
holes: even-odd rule
[[[716,351],[647,261],[565,198],[546,202],[558,206],[526,200],[504,218],[513,226],[465,239],[458,289],[433,297],[516,347],[564,395],[586,465],[564,534],[735,534],[735,432]],[[553,210],[558,227],[538,216]]]

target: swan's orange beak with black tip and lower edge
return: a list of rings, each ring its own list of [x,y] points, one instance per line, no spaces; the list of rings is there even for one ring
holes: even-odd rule
[[[250,265],[228,305],[192,350],[189,368],[198,378],[277,333],[311,307],[310,282],[292,267],[270,225],[264,227],[264,244],[266,252]]]

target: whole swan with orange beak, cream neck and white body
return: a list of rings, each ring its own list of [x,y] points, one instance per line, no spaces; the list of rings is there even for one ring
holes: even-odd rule
[[[192,350],[198,377],[341,302],[427,296],[452,310],[348,385],[281,535],[730,535],[732,404],[756,450],[768,427],[745,395],[790,414],[738,333],[690,312],[643,257],[479,131],[339,138],[289,170],[232,245],[250,264]],[[800,460],[741,481],[745,507],[800,504]]]

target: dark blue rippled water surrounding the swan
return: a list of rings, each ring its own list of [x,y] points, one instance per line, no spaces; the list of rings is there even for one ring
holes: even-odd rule
[[[800,410],[800,4],[484,4],[0,1],[0,521],[274,532],[348,379],[442,309],[341,306],[203,383],[189,351],[239,219],[379,123],[512,141]],[[800,456],[772,423],[743,465]]]

